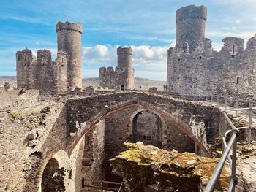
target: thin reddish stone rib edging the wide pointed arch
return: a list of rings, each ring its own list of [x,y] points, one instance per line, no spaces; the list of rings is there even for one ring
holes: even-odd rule
[[[80,139],[83,138],[83,136],[86,133],[88,133],[91,130],[91,128],[94,128],[94,126],[96,126],[100,120],[104,120],[105,118],[108,118],[111,115],[114,115],[117,112],[120,112],[122,110],[126,110],[127,108],[130,108],[130,107],[138,107],[141,110],[148,110],[150,112],[153,112],[153,113],[159,115],[160,118],[163,118],[163,119],[167,120],[168,122],[173,123],[174,126],[179,128],[181,131],[183,131],[185,134],[187,134],[188,137],[190,137],[192,140],[195,141],[195,144],[200,148],[201,155],[211,156],[210,153],[208,152],[206,146],[204,146],[203,143],[199,139],[197,139],[197,137],[195,137],[195,135],[190,130],[191,128],[187,124],[185,124],[183,121],[179,120],[175,116],[171,115],[170,113],[165,112],[164,110],[160,110],[157,107],[152,107],[151,104],[146,104],[146,102],[138,104],[138,101],[128,102],[127,104],[123,103],[123,104],[121,104],[121,106],[118,105],[118,106],[114,107],[113,109],[108,110],[108,112],[106,112],[105,114],[99,115],[99,116],[97,116],[97,118],[91,119],[89,125],[86,126],[86,128],[84,128],[80,132],[80,134],[77,137],[75,137],[75,139],[72,141],[72,143],[69,143],[69,145],[67,146],[67,152],[68,152],[69,156],[72,153],[72,150],[75,148],[75,146],[80,141]]]

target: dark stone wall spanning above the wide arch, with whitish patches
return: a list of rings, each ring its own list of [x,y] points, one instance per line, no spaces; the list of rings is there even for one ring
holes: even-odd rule
[[[83,135],[86,128],[108,117],[108,113],[121,112],[132,107],[132,104],[142,104],[138,107],[170,121],[190,138],[195,137],[195,142],[200,147],[207,147],[206,143],[214,143],[214,138],[219,136],[220,110],[217,108],[199,102],[173,99],[170,96],[130,92],[67,101],[68,145],[80,138],[79,135]]]

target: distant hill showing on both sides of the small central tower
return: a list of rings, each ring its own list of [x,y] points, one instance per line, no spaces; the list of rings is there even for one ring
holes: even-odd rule
[[[135,77],[135,89],[148,89],[151,87],[156,87],[158,90],[163,90],[163,85],[165,85],[165,81],[157,81],[157,80],[150,80],[146,78],[139,78]],[[98,86],[99,85],[99,78],[98,77],[91,77],[91,78],[83,78],[83,87],[86,86]]]

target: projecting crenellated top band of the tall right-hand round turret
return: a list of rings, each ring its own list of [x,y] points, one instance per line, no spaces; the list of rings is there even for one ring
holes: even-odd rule
[[[206,21],[207,8],[203,5],[200,7],[189,5],[187,7],[181,7],[176,11],[176,23],[187,18],[201,18]]]

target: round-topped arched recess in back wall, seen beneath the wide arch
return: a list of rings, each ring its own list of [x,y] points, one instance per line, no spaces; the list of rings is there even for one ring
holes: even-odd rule
[[[162,120],[149,111],[138,112],[132,119],[132,142],[162,148]]]

